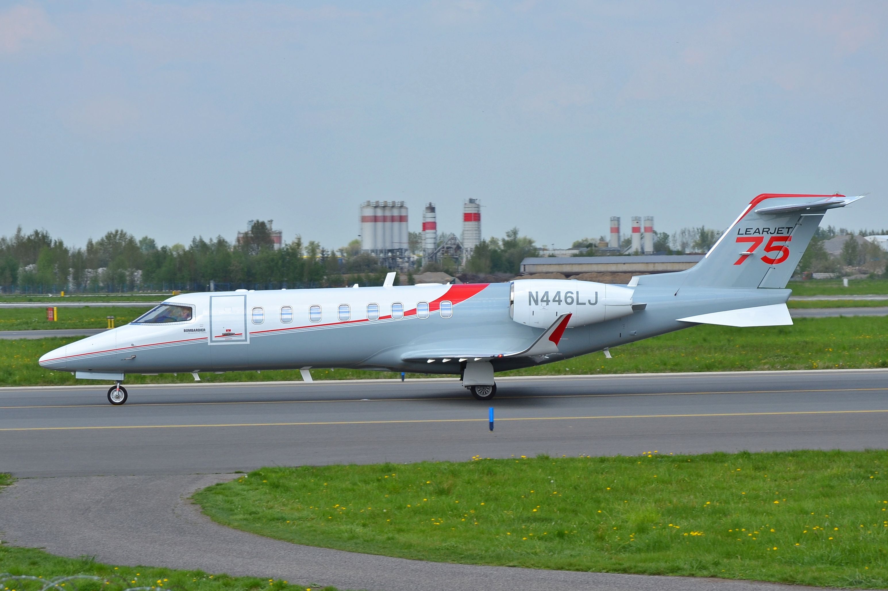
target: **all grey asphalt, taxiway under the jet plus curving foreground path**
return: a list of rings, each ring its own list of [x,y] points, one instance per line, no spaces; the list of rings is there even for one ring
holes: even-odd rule
[[[224,473],[276,464],[888,442],[888,370],[513,378],[499,381],[492,403],[445,379],[132,386],[124,406],[107,404],[105,389],[0,389],[0,470],[22,478],[0,493],[4,540],[108,563],[344,589],[789,587],[308,548],[212,524],[188,496],[232,477]],[[496,412],[493,432],[488,406]]]

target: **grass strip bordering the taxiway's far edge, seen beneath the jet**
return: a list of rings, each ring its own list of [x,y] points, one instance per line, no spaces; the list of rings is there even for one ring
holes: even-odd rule
[[[51,371],[37,359],[70,338],[0,340],[0,386],[74,384],[68,372]],[[500,375],[628,374],[888,367],[888,319],[796,319],[791,327],[699,326],[544,366]],[[315,369],[315,380],[395,378],[398,374],[353,369]],[[421,377],[410,374],[410,377]],[[298,381],[297,370],[201,374],[204,382]],[[127,383],[193,382],[191,374],[127,375]],[[79,383],[92,383],[80,381]]]

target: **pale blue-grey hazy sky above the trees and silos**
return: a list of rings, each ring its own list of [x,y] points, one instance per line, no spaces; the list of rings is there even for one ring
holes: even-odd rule
[[[338,248],[364,200],[538,244],[724,228],[757,193],[888,226],[888,3],[0,2],[0,234]]]

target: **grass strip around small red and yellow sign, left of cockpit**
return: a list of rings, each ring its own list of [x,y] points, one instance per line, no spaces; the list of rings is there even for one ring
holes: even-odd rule
[[[53,330],[59,328],[105,328],[107,317],[115,317],[115,326],[137,319],[151,310],[150,306],[90,306],[59,308],[59,319],[46,319],[45,308],[0,308],[0,330]]]

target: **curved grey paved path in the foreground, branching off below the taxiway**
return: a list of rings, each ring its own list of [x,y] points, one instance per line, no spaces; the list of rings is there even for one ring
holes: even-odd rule
[[[801,591],[722,579],[425,563],[297,546],[214,524],[188,496],[232,476],[20,480],[0,493],[0,532],[18,546],[105,563],[199,568],[380,591]],[[314,585],[313,585],[314,587]]]

